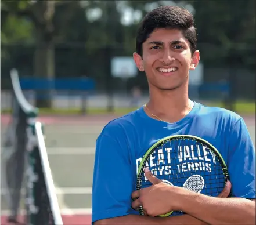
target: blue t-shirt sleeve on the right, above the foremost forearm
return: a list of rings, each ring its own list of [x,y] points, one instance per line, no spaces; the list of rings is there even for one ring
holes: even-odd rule
[[[243,118],[229,135],[228,171],[233,197],[255,198],[255,148]]]

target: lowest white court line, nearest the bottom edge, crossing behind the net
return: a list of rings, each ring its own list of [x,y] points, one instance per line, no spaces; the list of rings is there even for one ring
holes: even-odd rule
[[[60,209],[60,214],[72,216],[72,215],[91,215],[92,209],[91,208],[82,208],[82,209]],[[9,216],[10,211],[9,210],[1,210],[1,216]],[[26,215],[26,211],[24,209],[21,209],[20,215],[24,216]]]

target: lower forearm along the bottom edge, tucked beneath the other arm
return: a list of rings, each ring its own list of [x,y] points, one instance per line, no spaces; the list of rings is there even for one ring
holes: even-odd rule
[[[171,217],[149,217],[140,215],[127,215],[96,221],[93,225],[204,225],[206,223],[189,215]]]

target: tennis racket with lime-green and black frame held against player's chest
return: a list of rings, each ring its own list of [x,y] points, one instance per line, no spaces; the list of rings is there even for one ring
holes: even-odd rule
[[[152,185],[143,172],[145,167],[171,186],[212,197],[217,197],[229,180],[228,168],[219,151],[207,141],[192,135],[168,136],[153,144],[140,162],[136,190]],[[139,206],[139,213],[144,214],[143,206]],[[172,211],[159,216],[184,213]]]

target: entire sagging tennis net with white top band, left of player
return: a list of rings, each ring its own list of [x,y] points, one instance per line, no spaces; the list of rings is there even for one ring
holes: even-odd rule
[[[26,224],[62,225],[43,126],[37,122],[39,111],[24,97],[17,70],[10,72],[10,78],[12,119],[1,152],[2,187],[6,190],[9,218],[16,219],[20,214],[21,188],[24,186]]]

